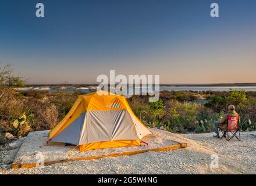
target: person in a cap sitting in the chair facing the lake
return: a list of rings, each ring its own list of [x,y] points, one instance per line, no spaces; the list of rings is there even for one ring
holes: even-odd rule
[[[234,110],[234,105],[229,105],[228,107],[229,111],[222,117],[221,121],[215,121],[214,122],[214,132],[216,135],[214,135],[215,138],[219,138],[219,127],[226,128],[227,127],[227,116],[236,117],[238,116],[238,123],[240,122],[239,114]]]

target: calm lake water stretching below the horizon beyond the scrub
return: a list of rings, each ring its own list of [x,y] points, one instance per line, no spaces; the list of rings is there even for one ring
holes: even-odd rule
[[[36,91],[48,91],[48,92],[58,92],[58,91],[62,91],[62,92],[74,92],[76,88],[66,88],[66,89],[58,89],[58,88],[54,88],[51,90],[36,90]],[[127,88],[128,92],[131,92],[133,88]],[[30,89],[33,90],[33,89]],[[147,88],[134,88],[134,92],[135,91],[140,90],[140,92],[146,92]],[[256,91],[256,87],[194,87],[194,86],[182,86],[182,87],[176,87],[176,86],[160,86],[159,87],[160,91],[230,91],[230,90],[245,90],[245,91]],[[27,91],[27,90],[20,90],[20,91]],[[95,90],[90,90],[90,89],[81,89],[79,90],[80,92],[92,92]]]

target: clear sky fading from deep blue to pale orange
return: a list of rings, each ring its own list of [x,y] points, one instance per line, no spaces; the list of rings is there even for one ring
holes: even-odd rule
[[[109,70],[161,83],[256,82],[256,1],[1,0],[0,63],[35,84],[95,83]]]

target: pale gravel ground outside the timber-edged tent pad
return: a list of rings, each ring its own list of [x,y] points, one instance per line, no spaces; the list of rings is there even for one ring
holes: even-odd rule
[[[2,169],[0,174],[256,174],[256,131],[241,134],[241,141],[230,142],[208,134],[172,134],[188,147],[168,152],[147,152],[133,156],[81,160],[33,169]],[[5,151],[1,151],[5,152]],[[211,156],[218,155],[218,167],[211,167]],[[2,158],[2,157],[1,157]]]

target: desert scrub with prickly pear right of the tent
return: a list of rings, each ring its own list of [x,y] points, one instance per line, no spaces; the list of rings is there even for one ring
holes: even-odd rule
[[[212,132],[214,121],[220,120],[227,106],[234,104],[243,131],[256,130],[255,92],[162,91],[158,102],[147,103],[142,96],[133,96],[129,102],[147,126],[163,127],[174,133]]]

